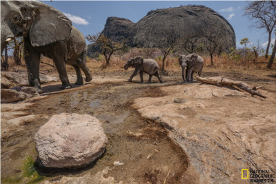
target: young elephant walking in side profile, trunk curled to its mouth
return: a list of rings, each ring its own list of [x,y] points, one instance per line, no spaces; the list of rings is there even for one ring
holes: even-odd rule
[[[163,81],[161,80],[161,76],[159,74],[159,66],[156,63],[156,61],[153,59],[143,59],[142,57],[135,57],[135,59],[131,58],[124,65],[124,69],[128,70],[128,66],[132,66],[132,68],[135,68],[135,71],[130,76],[130,79],[128,79],[128,81],[130,81],[130,82],[132,81],[132,78],[139,73],[140,78],[141,78],[140,83],[143,83],[143,72],[145,72],[150,75],[150,77],[148,79],[148,83],[151,82],[152,75],[157,76],[160,83],[163,83]]]

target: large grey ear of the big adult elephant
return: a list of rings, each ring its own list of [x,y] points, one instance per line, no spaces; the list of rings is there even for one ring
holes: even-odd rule
[[[30,3],[34,6],[34,22],[30,28],[32,46],[48,45],[69,37],[72,22],[62,12],[38,1]]]

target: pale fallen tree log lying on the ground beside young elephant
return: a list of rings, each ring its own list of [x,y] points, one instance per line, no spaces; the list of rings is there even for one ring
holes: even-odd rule
[[[233,80],[224,78],[224,76],[213,76],[208,78],[197,76],[197,80],[201,81],[201,83],[209,83],[213,85],[236,86],[237,88],[240,88],[242,90],[245,90],[246,92],[249,92],[252,96],[257,95],[266,99],[266,96],[256,91],[257,89],[262,88],[262,86],[250,88],[246,83],[242,81],[233,81]]]

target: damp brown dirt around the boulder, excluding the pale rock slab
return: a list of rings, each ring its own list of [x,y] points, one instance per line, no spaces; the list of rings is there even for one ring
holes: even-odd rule
[[[205,73],[206,76],[213,74],[212,72]],[[275,78],[248,74],[239,74],[238,76],[224,74],[224,76],[227,75],[230,79],[241,79],[248,84],[264,85],[264,90],[276,92]],[[37,158],[34,149],[34,134],[41,125],[48,121],[50,116],[61,112],[96,116],[101,120],[109,142],[106,153],[95,164],[83,170],[49,171],[37,168],[37,172],[45,176],[45,180],[55,181],[61,179],[62,176],[86,177],[88,173],[95,175],[109,167],[108,173],[103,177],[110,176],[115,183],[119,181],[164,183],[167,175],[166,183],[179,183],[188,167],[186,154],[170,141],[163,127],[142,119],[136,110],[130,108],[132,101],[139,97],[166,95],[159,88],[179,85],[175,80],[181,79],[177,74],[164,78],[167,81],[164,84],[139,84],[128,83],[126,76],[97,76],[88,85],[63,91],[58,90],[59,83],[53,83],[44,86],[43,90],[46,94],[30,100],[30,105],[26,107],[16,110],[16,107],[18,108],[20,104],[24,103],[10,105],[10,109],[9,105],[2,105],[1,183],[32,181],[30,177],[24,176],[22,165],[26,161],[26,156],[31,156],[32,159]],[[10,129],[8,127],[3,129],[3,126],[9,126],[5,124],[5,121],[10,119],[10,114],[13,118],[30,114],[34,117],[30,117]],[[7,119],[7,117],[9,118]],[[124,165],[115,167],[113,165],[115,161],[124,163]],[[91,178],[91,176],[89,177]]]

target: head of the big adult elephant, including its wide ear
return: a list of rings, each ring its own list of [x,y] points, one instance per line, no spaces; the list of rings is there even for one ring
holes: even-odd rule
[[[1,1],[1,25],[1,52],[14,37],[28,37],[38,47],[66,39],[72,30],[62,12],[39,1]]]

